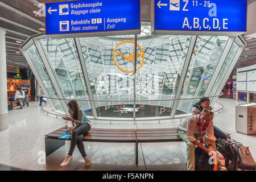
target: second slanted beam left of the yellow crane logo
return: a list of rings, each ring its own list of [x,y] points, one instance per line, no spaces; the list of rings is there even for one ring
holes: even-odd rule
[[[49,77],[51,78],[51,81],[52,81],[52,84],[54,85],[54,88],[56,90],[56,93],[57,93],[57,96],[60,98],[60,99],[64,99],[64,96],[63,96],[63,93],[61,92],[61,88],[56,80],[56,77],[54,76],[53,74],[53,71],[52,71],[52,68],[51,68],[51,65],[49,64],[48,60],[47,60],[47,57],[46,57],[46,53],[44,52],[43,48],[42,48],[42,45],[40,44],[39,42],[39,39],[36,39],[34,38],[34,43],[35,43],[35,46],[36,46],[36,49],[38,49],[38,52],[39,52],[39,55],[41,56],[42,58],[42,61],[43,61],[43,64],[44,66],[46,67],[46,70],[49,74]],[[66,104],[66,102],[64,100],[60,100],[60,103],[65,111],[65,113],[67,115],[69,115],[69,112],[68,112],[68,106]]]

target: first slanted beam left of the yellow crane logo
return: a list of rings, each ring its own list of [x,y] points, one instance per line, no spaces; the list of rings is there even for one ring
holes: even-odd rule
[[[80,40],[79,38],[74,38],[74,40],[76,44],[77,55],[79,56],[79,60],[81,64],[82,74],[84,75],[84,82],[86,85],[86,89],[88,90],[88,97],[89,97],[89,100],[94,100],[92,90],[90,89],[90,81],[89,81],[88,72],[86,69],[85,61],[84,61],[84,56],[82,56],[82,47],[80,44]],[[93,117],[97,118],[98,116],[97,116],[97,111],[96,111],[96,106],[94,104],[94,101],[90,101],[90,106],[92,107]]]

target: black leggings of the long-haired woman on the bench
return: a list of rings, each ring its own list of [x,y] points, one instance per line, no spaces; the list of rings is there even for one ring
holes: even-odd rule
[[[88,133],[88,131],[90,131],[89,123],[84,123],[84,124],[78,126],[73,131],[71,145],[70,145],[68,155],[73,154],[73,151],[77,145],[77,148],[79,149],[80,153],[82,154],[82,157],[84,158],[86,156],[85,149],[84,149],[84,143],[82,143],[82,138],[84,138],[84,134]]]

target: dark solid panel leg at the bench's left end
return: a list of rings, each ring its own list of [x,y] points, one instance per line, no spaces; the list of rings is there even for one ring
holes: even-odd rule
[[[46,145],[46,156],[52,154],[52,152],[56,151],[65,144],[65,140],[60,139],[52,139],[46,137],[44,140]]]

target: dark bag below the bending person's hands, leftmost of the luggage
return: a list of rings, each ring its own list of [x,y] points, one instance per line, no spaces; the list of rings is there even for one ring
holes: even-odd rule
[[[199,147],[195,150],[195,170],[196,171],[213,171],[214,164],[209,163],[210,156]]]

